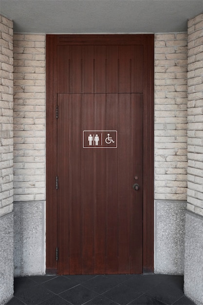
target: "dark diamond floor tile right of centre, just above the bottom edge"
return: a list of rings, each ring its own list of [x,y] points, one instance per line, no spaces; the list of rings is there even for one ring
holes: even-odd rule
[[[126,305],[138,298],[142,293],[126,285],[120,284],[111,290],[105,292],[103,296],[122,305]]]

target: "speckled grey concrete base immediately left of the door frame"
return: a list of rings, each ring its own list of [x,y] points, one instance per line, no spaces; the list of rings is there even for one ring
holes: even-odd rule
[[[14,202],[14,276],[45,274],[45,202]]]

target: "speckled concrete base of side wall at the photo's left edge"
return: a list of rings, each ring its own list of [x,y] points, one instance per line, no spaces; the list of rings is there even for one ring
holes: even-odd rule
[[[0,304],[14,294],[13,286],[13,212],[0,217]]]

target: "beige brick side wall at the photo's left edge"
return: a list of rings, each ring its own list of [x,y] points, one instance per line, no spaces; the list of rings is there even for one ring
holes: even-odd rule
[[[13,210],[13,22],[0,16],[0,216]]]

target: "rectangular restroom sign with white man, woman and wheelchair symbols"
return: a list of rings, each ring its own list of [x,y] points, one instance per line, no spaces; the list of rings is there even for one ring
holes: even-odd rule
[[[83,130],[83,148],[117,148],[116,130]]]

